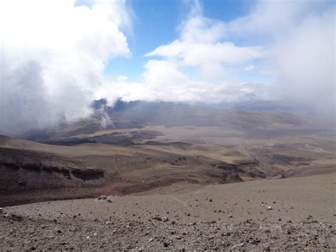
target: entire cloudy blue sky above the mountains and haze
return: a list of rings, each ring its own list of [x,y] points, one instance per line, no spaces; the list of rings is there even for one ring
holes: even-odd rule
[[[335,114],[335,1],[0,1],[0,134],[117,99]]]

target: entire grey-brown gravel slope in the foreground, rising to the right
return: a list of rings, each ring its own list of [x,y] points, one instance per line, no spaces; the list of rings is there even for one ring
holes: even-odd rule
[[[335,251],[334,178],[318,175],[5,207],[0,248]]]

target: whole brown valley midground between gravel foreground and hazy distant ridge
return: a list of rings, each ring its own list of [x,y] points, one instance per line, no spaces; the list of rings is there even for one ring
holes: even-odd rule
[[[194,188],[335,170],[335,142],[306,131],[254,134],[209,126],[145,126],[72,138],[104,142],[109,136],[118,136],[119,143],[63,146],[1,136],[0,201],[129,195],[181,182]],[[124,138],[128,146],[120,145]]]

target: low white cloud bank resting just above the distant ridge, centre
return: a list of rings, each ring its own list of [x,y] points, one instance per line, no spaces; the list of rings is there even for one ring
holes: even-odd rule
[[[125,102],[140,99],[218,104],[274,98],[270,96],[265,84],[191,80],[179,70],[176,63],[165,60],[150,60],[145,69],[143,82],[128,82],[118,78],[106,80],[96,93],[96,99],[106,97],[111,104],[120,97]]]

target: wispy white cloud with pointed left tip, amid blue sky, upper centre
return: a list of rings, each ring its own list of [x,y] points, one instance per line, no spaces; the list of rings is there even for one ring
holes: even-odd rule
[[[223,41],[225,23],[204,17],[198,1],[194,1],[179,31],[179,39],[145,56],[165,57],[170,62],[179,62],[181,67],[198,67],[203,77],[211,80],[225,75],[224,65],[237,66],[265,57],[262,47],[239,47]]]

